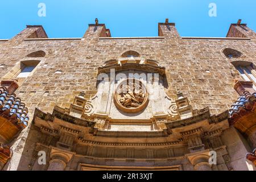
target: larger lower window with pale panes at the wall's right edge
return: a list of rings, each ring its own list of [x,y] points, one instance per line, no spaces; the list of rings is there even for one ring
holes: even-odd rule
[[[245,81],[252,81],[253,88],[256,90],[256,71],[253,63],[249,61],[232,61],[231,62]]]

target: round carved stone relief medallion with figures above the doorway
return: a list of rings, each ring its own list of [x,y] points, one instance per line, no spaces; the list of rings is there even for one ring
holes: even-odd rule
[[[115,89],[114,103],[118,109],[126,113],[137,113],[143,110],[148,104],[146,86],[137,79],[123,80]]]

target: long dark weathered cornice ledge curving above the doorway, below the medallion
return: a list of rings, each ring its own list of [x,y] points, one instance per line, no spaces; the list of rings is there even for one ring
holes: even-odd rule
[[[154,138],[154,137],[168,137],[168,135],[172,134],[172,129],[177,129],[180,127],[184,127],[184,126],[188,126],[188,125],[192,125],[195,124],[197,122],[200,121],[214,121],[212,123],[216,123],[216,122],[220,122],[222,121],[222,119],[225,119],[225,117],[219,117],[219,116],[210,116],[209,114],[209,109],[203,109],[204,112],[199,111],[198,113],[200,113],[199,115],[194,115],[191,118],[186,118],[180,121],[173,121],[173,122],[168,122],[168,117],[167,115],[164,115],[164,119],[163,120],[163,116],[161,115],[161,117],[156,117],[157,119],[153,119],[154,122],[157,121],[162,121],[164,125],[167,126],[167,129],[164,129],[162,131],[136,131],[133,134],[133,131],[105,131],[105,130],[98,130],[95,127],[95,119],[94,121],[89,121],[88,119],[81,119],[81,118],[76,118],[73,117],[71,115],[68,115],[67,113],[64,113],[64,109],[61,109],[60,107],[54,107],[53,109],[53,114],[49,114],[49,113],[43,113],[42,111],[40,111],[39,109],[36,109],[35,111],[35,116],[34,116],[34,120],[35,121],[35,117],[39,117],[40,119],[43,119],[46,122],[53,122],[54,118],[58,118],[61,119],[61,121],[68,122],[68,123],[72,123],[74,125],[78,125],[78,126],[83,126],[83,127],[89,127],[90,128],[90,134],[94,134],[97,137],[126,137],[126,138],[133,138],[133,137],[137,137],[137,138],[143,138],[143,137],[147,137],[147,138]],[[224,115],[224,114],[220,114],[220,115]],[[92,115],[92,117],[96,117],[96,115]],[[98,117],[98,116],[97,116]],[[106,117],[105,117],[106,118]],[[217,119],[216,119],[217,118]],[[111,118],[106,118],[108,119],[108,121],[111,121]],[[148,122],[152,122],[153,120],[151,119],[151,121],[149,120]],[[160,119],[160,120],[159,120]],[[206,119],[206,120],[205,120]],[[167,122],[166,122],[167,121]],[[60,125],[60,126],[64,126]],[[209,122],[210,124],[210,122]],[[40,126],[41,127],[41,126]],[[41,130],[43,132],[48,132],[51,135],[56,135],[59,133],[60,129],[56,129],[55,130],[59,130],[59,131],[55,131],[52,129],[48,129],[47,126],[42,126]],[[76,130],[76,129],[72,129],[72,128],[66,128],[63,127],[63,129],[61,130],[65,130],[67,132],[71,132],[72,134],[76,134],[76,135],[80,135],[81,131]],[[184,132],[192,132],[192,131],[184,131]],[[184,135],[185,133],[181,133],[181,137],[182,135]],[[212,135],[213,131],[211,131],[211,133],[205,133],[204,135]]]

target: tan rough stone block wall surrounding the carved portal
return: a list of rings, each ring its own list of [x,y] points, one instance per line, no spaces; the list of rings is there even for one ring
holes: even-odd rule
[[[222,51],[236,49],[244,55],[236,60],[256,64],[255,32],[248,27],[232,28],[237,28],[245,36],[183,38],[174,23],[159,23],[158,38],[108,38],[109,31],[104,24],[90,24],[81,39],[48,39],[42,27],[28,26],[14,38],[0,41],[0,77],[3,79],[20,61],[40,61],[33,74],[22,80],[16,90],[32,119],[36,107],[52,113],[53,106],[69,107],[81,91],[85,92],[85,98],[93,97],[97,92],[98,67],[132,50],[166,68],[168,96],[176,99],[177,92],[183,92],[193,109],[208,106],[210,113],[220,114],[237,100],[234,81],[242,79],[230,63],[232,59],[226,58]],[[46,56],[26,57],[35,51],[44,51]],[[32,150],[21,149],[29,129],[16,141],[13,166],[9,169],[29,169]],[[27,140],[35,146],[36,140]],[[20,158],[26,167],[18,167]],[[236,161],[239,163],[240,159]]]

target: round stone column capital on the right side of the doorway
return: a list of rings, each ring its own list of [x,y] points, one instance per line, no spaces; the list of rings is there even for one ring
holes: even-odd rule
[[[209,163],[209,150],[193,152],[186,156],[196,171],[212,171],[212,165]]]

